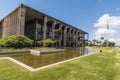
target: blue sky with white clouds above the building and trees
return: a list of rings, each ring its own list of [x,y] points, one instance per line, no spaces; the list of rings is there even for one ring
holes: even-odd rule
[[[120,44],[120,0],[1,0],[0,19],[20,3],[88,32],[90,39],[103,36]]]

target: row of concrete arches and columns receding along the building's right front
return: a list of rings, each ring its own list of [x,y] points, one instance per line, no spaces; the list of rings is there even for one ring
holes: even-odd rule
[[[57,46],[79,47],[85,44],[85,32],[59,21],[45,17],[43,28],[44,34],[47,33],[46,37],[43,34],[43,39],[48,37],[55,39],[57,41]]]

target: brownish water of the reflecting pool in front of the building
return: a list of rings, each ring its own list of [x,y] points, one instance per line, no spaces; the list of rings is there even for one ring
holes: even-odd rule
[[[66,48],[65,52],[41,54],[40,56],[31,55],[29,53],[13,54],[9,56],[28,66],[38,68],[85,54],[88,54],[88,50],[86,51],[85,48]]]

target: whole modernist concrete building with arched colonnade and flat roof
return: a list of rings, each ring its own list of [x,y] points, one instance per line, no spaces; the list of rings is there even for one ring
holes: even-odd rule
[[[52,38],[58,46],[85,46],[88,33],[21,4],[0,21],[0,38],[25,35],[34,41]]]

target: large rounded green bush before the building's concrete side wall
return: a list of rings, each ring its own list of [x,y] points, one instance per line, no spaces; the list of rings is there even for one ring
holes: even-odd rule
[[[0,45],[2,47],[23,48],[23,47],[31,47],[32,44],[33,44],[33,40],[23,35],[12,35],[0,39]]]

